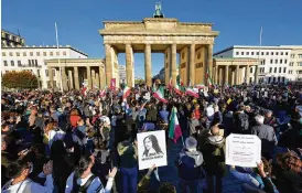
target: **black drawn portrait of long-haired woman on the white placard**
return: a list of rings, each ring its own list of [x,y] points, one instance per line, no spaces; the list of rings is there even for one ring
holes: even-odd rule
[[[163,154],[161,147],[159,146],[158,138],[153,135],[147,136],[143,139],[144,151],[142,158],[154,157]]]

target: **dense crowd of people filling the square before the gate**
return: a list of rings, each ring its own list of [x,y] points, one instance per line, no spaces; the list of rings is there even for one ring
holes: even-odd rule
[[[165,89],[166,101],[145,86],[131,88],[127,98],[122,94],[2,92],[1,192],[220,193],[226,175],[241,182],[241,192],[302,192],[301,88],[216,86],[199,88],[198,97]],[[177,143],[183,144],[168,165],[177,170],[176,182],[162,180],[165,167],[138,170],[138,132],[165,130],[166,151],[173,148],[172,109],[182,129]],[[258,168],[225,163],[230,133],[260,138]]]

